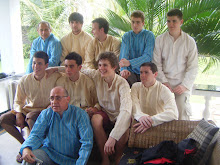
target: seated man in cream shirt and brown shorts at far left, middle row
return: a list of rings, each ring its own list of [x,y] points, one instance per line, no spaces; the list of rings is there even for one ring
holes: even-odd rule
[[[48,55],[43,51],[38,51],[33,57],[33,73],[23,76],[17,86],[14,108],[1,116],[1,126],[21,144],[24,138],[16,128],[23,129],[28,126],[31,130],[40,112],[50,105],[48,100],[50,90],[55,87],[59,73],[53,74],[46,79],[45,69],[48,67]],[[17,156],[17,161],[21,162],[21,156]]]

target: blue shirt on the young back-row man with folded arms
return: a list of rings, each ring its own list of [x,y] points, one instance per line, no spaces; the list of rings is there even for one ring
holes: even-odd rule
[[[135,34],[132,30],[126,32],[122,37],[119,60],[129,60],[129,67],[122,67],[135,74],[140,74],[140,66],[144,62],[150,62],[153,56],[155,38],[151,31],[143,29]]]

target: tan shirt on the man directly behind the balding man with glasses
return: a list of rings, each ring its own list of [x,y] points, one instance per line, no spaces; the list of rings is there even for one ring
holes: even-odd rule
[[[64,75],[57,80],[56,84],[68,91],[70,96],[69,104],[85,109],[94,107],[98,102],[93,80],[83,73],[80,73],[79,79],[75,82]]]

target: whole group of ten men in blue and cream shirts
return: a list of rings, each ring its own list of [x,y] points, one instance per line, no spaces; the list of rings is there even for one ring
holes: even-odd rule
[[[23,143],[17,159],[24,159],[23,164],[34,163],[36,157],[44,164],[86,164],[94,133],[102,165],[110,164],[109,155],[118,164],[132,118],[139,121],[133,126],[136,133],[171,120],[189,120],[198,55],[182,23],[182,12],[170,10],[168,32],[155,41],[153,33],[143,29],[143,12],[134,11],[132,30],[120,44],[108,35],[104,18],[92,21],[92,38],[82,31],[82,15],[72,13],[72,32],[61,42],[49,23],[41,22],[40,37],[31,48],[33,73],[18,84],[15,111],[0,118],[2,127]],[[65,69],[47,72],[65,73],[47,77],[46,68],[58,65],[55,59]],[[26,140],[16,126],[32,129]]]

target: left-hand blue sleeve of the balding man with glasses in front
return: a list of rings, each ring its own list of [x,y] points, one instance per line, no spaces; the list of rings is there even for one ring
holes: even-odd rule
[[[40,115],[38,116],[34,124],[34,127],[31,130],[30,135],[28,136],[27,139],[25,139],[24,143],[21,146],[21,149],[20,149],[21,154],[24,148],[28,147],[31,150],[36,150],[41,146],[44,140],[44,137],[46,135],[49,118],[50,118],[47,116],[47,110],[49,109],[42,111]]]

